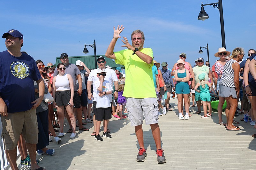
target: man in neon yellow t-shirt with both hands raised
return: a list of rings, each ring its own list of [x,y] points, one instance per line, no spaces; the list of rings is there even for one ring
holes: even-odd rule
[[[127,115],[131,125],[135,126],[135,133],[140,146],[137,161],[145,161],[147,156],[143,140],[143,114],[146,124],[150,124],[156,145],[157,163],[165,163],[161,148],[160,128],[158,126],[158,103],[154,89],[152,74],[153,51],[151,48],[143,48],[144,34],[140,30],[132,32],[132,45],[126,37],[122,42],[127,49],[113,52],[120,33],[124,30],[123,25],[114,27],[114,36],[111,40],[106,57],[114,59],[117,64],[125,67],[125,86],[123,96],[127,97]],[[139,73],[139,76],[138,76]]]

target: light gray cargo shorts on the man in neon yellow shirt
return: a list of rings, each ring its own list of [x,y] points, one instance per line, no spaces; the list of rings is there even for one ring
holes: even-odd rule
[[[158,123],[158,103],[156,98],[131,98],[126,97],[127,116],[131,126],[143,124],[145,117],[146,124]]]

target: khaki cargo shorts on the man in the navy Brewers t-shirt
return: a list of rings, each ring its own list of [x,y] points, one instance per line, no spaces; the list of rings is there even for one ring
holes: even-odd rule
[[[26,143],[38,143],[36,109],[9,113],[7,117],[2,116],[1,121],[3,124],[2,137],[5,150],[11,151],[15,149],[19,141],[20,134],[23,135]]]

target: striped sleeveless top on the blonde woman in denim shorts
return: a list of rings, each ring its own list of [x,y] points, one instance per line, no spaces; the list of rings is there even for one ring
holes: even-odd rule
[[[223,84],[224,86],[227,86],[230,88],[235,88],[234,69],[232,68],[232,64],[235,62],[237,62],[237,61],[231,59],[224,65],[220,84]]]

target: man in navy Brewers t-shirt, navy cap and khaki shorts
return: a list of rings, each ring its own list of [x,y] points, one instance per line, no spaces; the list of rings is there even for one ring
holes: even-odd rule
[[[35,154],[38,143],[36,108],[44,95],[44,82],[35,60],[21,53],[23,35],[17,30],[3,34],[6,51],[0,53],[0,114],[2,118],[4,149],[11,169],[16,164],[20,134],[26,141],[31,169],[38,169]],[[38,84],[39,98],[35,99],[34,81]]]

